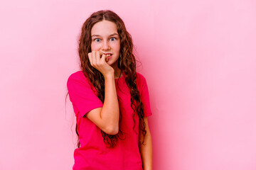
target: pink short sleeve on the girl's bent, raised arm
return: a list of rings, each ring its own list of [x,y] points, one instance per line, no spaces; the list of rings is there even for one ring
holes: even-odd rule
[[[102,101],[91,89],[89,82],[81,72],[71,74],[67,82],[70,101],[73,103],[75,115],[85,115],[92,109],[103,106]]]

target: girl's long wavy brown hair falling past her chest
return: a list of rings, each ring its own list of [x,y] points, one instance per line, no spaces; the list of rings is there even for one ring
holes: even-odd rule
[[[82,72],[85,75],[85,77],[87,77],[87,79],[90,80],[92,86],[95,87],[97,91],[97,97],[100,98],[100,101],[102,101],[103,103],[105,98],[104,76],[101,72],[92,67],[92,65],[90,64],[90,60],[87,57],[88,53],[91,52],[92,26],[94,26],[95,23],[103,20],[112,21],[117,25],[117,33],[119,34],[120,38],[120,56],[117,60],[117,67],[121,70],[121,73],[124,72],[124,74],[127,76],[125,77],[125,81],[130,89],[131,107],[132,110],[134,111],[133,120],[135,114],[137,113],[137,115],[139,116],[139,133],[140,136],[143,137],[142,142],[139,142],[139,144],[144,145],[144,137],[146,135],[146,123],[144,122],[144,107],[139,96],[139,90],[137,89],[136,60],[133,54],[132,36],[127,32],[127,29],[124,26],[124,22],[122,21],[122,19],[119,16],[117,16],[117,14],[113,11],[97,11],[95,13],[92,13],[92,15],[89,18],[87,18],[85,23],[83,23],[78,47],[80,67],[82,68]],[[122,113],[120,113],[119,123],[121,122],[121,120]],[[133,130],[134,128],[135,120]],[[76,124],[75,126],[75,131],[78,135],[78,147],[80,147],[78,124]],[[105,144],[108,145],[108,147],[114,147],[115,145],[117,145],[118,138],[120,138],[119,134],[108,135],[102,130],[101,132],[103,140]],[[120,130],[120,128],[119,133],[122,133],[122,130]]]

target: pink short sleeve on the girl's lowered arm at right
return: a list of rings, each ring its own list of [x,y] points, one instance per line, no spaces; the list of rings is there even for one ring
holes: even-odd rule
[[[144,117],[148,117],[149,115],[152,115],[151,108],[150,108],[150,102],[149,102],[149,89],[146,84],[146,79],[142,76],[142,74],[139,74],[139,81],[141,86],[141,100],[144,106]]]

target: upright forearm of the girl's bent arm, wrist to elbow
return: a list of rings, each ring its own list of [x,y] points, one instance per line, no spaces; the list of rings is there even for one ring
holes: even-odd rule
[[[102,120],[110,127],[119,128],[119,103],[114,82],[114,74],[105,76],[105,99],[100,113]]]

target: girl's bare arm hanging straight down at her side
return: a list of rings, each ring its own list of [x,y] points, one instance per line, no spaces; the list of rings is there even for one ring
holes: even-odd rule
[[[149,124],[147,118],[144,117],[144,121],[146,123],[146,135],[144,138],[145,145],[139,145],[139,151],[142,156],[142,166],[144,170],[151,170],[152,169],[152,140],[151,134],[149,132]],[[140,133],[140,142],[143,140],[143,136]]]

